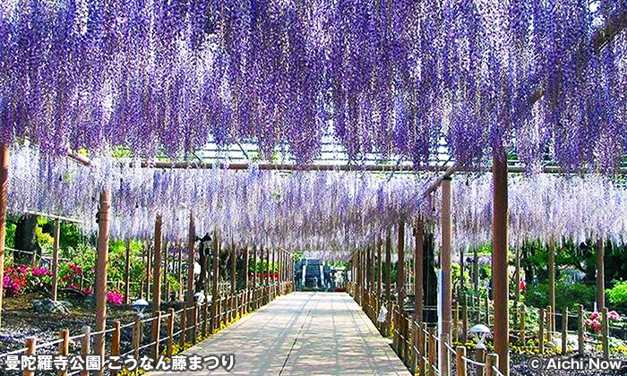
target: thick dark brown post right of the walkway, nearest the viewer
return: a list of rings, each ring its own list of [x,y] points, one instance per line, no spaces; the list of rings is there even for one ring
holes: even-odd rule
[[[509,278],[507,242],[507,156],[505,150],[494,152],[493,158],[493,286],[494,286],[494,351],[498,369],[510,376]]]

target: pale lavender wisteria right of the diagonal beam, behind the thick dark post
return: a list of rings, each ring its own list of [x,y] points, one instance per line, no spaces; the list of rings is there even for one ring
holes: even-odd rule
[[[453,239],[466,249],[491,241],[492,179],[455,180]],[[602,237],[627,241],[627,189],[599,175],[533,175],[511,179],[508,237],[511,245],[539,240],[583,243]],[[437,209],[437,207],[436,207]],[[441,214],[437,210],[436,218]],[[435,227],[436,231],[439,228]],[[440,235],[436,235],[439,241]]]

